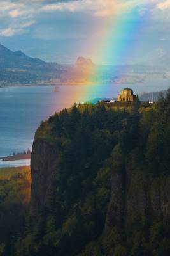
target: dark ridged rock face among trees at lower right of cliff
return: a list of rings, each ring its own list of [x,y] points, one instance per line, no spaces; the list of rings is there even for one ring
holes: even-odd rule
[[[122,223],[126,230],[147,220],[170,220],[170,177],[148,178],[142,172],[111,172],[111,198],[106,216],[106,230]],[[131,173],[131,174],[130,174]],[[124,180],[126,182],[124,183]],[[127,182],[128,180],[128,182]]]

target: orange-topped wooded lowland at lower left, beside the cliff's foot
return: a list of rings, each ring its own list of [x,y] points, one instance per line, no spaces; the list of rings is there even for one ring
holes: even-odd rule
[[[30,190],[30,166],[0,168],[0,255],[14,255],[14,243],[25,230]]]

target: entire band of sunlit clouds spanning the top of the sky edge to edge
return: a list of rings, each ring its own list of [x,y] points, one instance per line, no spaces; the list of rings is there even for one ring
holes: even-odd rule
[[[43,15],[51,12],[70,12],[71,15],[76,12],[85,13],[89,17],[103,19],[130,13],[134,8],[138,9],[141,15],[148,10],[152,11],[152,14],[155,13],[154,17],[160,19],[157,12],[170,8],[170,0],[0,0],[0,19],[5,21],[4,28],[3,22],[0,23],[0,35],[13,36],[27,31],[35,20],[43,20]],[[162,15],[161,19],[167,19],[167,15]],[[21,24],[27,26],[21,27]]]

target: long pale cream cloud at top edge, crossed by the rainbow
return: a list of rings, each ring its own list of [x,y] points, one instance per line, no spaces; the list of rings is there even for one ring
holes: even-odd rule
[[[97,17],[117,16],[120,13],[131,12],[134,8],[148,10],[154,9],[158,0],[76,0],[76,1],[55,1],[55,3],[44,4],[42,10],[45,12],[69,11],[69,12],[90,12]]]

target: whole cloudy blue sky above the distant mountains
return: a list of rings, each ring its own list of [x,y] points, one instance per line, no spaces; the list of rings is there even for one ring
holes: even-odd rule
[[[0,42],[61,64],[170,66],[170,0],[0,0]]]

